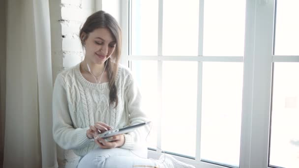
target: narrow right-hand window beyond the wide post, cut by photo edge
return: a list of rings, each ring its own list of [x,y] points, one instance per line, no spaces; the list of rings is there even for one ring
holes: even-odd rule
[[[274,58],[281,59],[273,64],[271,167],[299,167],[298,8],[297,0],[277,0],[276,3]]]

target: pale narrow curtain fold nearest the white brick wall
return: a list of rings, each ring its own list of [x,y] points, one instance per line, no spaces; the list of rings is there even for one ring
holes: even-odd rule
[[[52,134],[53,81],[49,1],[33,0],[33,5],[42,167],[56,168],[56,143]]]

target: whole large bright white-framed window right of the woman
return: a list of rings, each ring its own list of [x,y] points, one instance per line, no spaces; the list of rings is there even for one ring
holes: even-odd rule
[[[127,2],[124,46],[153,121],[153,156],[299,166],[296,0]]]

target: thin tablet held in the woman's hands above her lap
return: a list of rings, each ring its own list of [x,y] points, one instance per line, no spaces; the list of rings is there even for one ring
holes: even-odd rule
[[[127,126],[127,127],[116,129],[116,130],[106,131],[102,134],[99,134],[98,137],[106,139],[106,138],[109,138],[109,137],[112,137],[112,136],[115,136],[115,135],[126,134],[126,133],[129,133],[129,132],[132,132],[132,131],[136,130],[137,128],[148,125],[149,123],[150,123],[150,121],[143,122],[143,123],[140,123],[140,124],[131,125],[131,126]]]

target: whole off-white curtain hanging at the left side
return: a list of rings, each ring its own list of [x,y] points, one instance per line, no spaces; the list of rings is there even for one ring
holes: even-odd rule
[[[57,168],[48,0],[7,0],[3,168]]]

